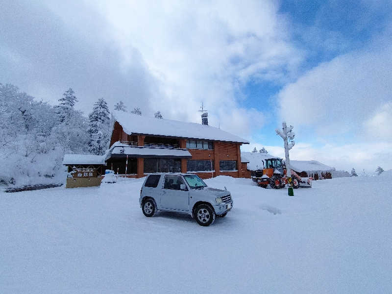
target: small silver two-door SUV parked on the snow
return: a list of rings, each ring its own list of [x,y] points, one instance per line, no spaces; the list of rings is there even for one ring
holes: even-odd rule
[[[140,191],[140,207],[146,217],[158,210],[183,212],[208,226],[215,216],[224,217],[233,207],[230,192],[209,188],[196,174],[152,173]]]

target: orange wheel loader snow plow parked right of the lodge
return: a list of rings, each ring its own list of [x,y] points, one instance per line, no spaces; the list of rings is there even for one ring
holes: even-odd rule
[[[263,161],[264,166],[264,161]],[[254,173],[252,180],[257,182],[257,185],[263,188],[268,188],[270,185],[273,189],[284,188],[288,184],[287,170],[284,162],[280,158],[270,158],[265,160],[263,170],[258,170]],[[296,172],[291,170],[293,188],[312,187],[312,177],[301,178]]]

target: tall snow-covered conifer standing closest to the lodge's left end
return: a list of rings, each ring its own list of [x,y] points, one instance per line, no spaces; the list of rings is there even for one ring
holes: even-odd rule
[[[89,115],[89,147],[90,152],[93,154],[101,155],[108,147],[110,140],[109,114],[109,108],[105,99],[99,98]]]

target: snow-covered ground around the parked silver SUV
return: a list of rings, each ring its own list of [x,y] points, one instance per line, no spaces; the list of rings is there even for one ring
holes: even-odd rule
[[[392,174],[227,187],[209,227],[146,218],[143,179],[0,194],[0,293],[392,293]]]

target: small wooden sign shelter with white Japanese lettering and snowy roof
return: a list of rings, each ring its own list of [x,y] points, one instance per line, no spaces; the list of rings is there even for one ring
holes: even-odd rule
[[[101,155],[65,154],[63,165],[68,172],[66,188],[99,186],[106,170]]]

